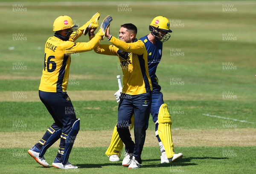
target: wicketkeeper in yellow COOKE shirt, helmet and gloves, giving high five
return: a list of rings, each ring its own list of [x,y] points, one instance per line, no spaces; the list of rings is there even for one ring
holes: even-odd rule
[[[28,150],[30,156],[44,167],[49,166],[44,158],[45,152],[61,138],[52,166],[62,169],[78,168],[68,161],[80,128],[80,119],[76,118],[73,104],[66,92],[71,62],[70,54],[90,51],[105,37],[106,29],[112,21],[111,16],[103,20],[99,32],[92,40],[87,43],[74,42],[83,33],[86,35],[90,29],[96,29],[99,26],[99,17],[100,14],[96,13],[79,29],[73,29],[77,26],[69,16],[57,17],[53,23],[55,34],[46,41],[39,97],[54,119],[54,123],[47,129],[42,139]]]

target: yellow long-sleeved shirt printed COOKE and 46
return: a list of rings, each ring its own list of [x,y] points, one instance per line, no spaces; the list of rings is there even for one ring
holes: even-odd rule
[[[79,32],[74,40],[69,41],[56,32],[53,37],[46,41],[44,69],[39,90],[55,93],[67,90],[71,62],[70,54],[93,50],[101,39],[99,35],[95,35],[89,42],[73,42],[81,34],[82,32]]]

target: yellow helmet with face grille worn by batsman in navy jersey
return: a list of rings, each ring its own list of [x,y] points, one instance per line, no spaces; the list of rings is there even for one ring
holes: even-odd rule
[[[158,32],[159,30],[166,32],[166,35],[164,35],[163,38],[157,36],[157,34],[162,35],[160,32]],[[167,41],[171,36],[169,32],[172,32],[172,30],[170,30],[169,20],[163,16],[157,16],[151,21],[149,25],[149,31],[151,31],[155,38],[162,42]]]

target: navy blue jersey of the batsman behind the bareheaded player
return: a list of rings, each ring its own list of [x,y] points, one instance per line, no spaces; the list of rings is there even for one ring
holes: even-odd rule
[[[148,40],[147,36],[144,36],[139,40],[143,41],[148,52],[148,73],[151,78],[153,90],[155,89],[161,90],[161,87],[158,84],[156,71],[157,71],[157,65],[160,63],[162,58],[163,43],[157,40],[156,44],[152,44]]]

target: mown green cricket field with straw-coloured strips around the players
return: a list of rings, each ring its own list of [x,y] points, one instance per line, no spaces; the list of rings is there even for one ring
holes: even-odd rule
[[[256,1],[45,2],[0,0],[0,173],[256,173]],[[115,37],[123,23],[135,24],[140,38],[149,33],[148,25],[154,17],[169,18],[173,33],[163,44],[157,77],[172,115],[175,151],[184,155],[179,162],[160,164],[159,147],[147,144],[157,144],[154,138],[146,139],[143,167],[136,171],[122,167],[122,162],[110,162],[105,156],[111,136],[102,146],[89,145],[97,137],[92,139],[86,132],[102,135],[116,124],[113,93],[118,89],[116,75],[122,74],[117,57],[93,51],[72,56],[67,90],[81,119],[77,139],[86,139],[77,146],[75,143],[70,155],[70,162],[79,168],[43,168],[27,154],[41,138],[33,134],[43,133],[53,121],[37,92],[44,44],[54,34],[52,23],[60,15],[69,15],[82,26],[96,12],[101,14],[99,23],[112,15],[111,32],[116,33]],[[89,39],[82,36],[77,41]],[[101,42],[109,44],[107,40]],[[153,130],[150,118],[148,131]],[[189,131],[198,131],[198,138],[182,134]],[[218,133],[202,139],[208,132]],[[223,142],[218,144],[220,139]],[[49,164],[56,153],[56,147],[47,151]]]

